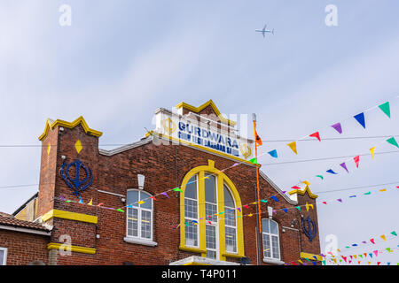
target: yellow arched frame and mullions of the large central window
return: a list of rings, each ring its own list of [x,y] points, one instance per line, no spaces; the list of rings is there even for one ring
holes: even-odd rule
[[[223,185],[226,184],[230,188],[232,197],[234,198],[237,208],[241,208],[241,199],[239,197],[239,192],[234,184],[231,182],[229,177],[226,176],[220,170],[215,168],[215,161],[208,160],[207,165],[202,165],[193,168],[188,172],[182,182],[182,193],[180,194],[180,247],[181,250],[191,251],[200,253],[201,256],[207,256],[207,243],[206,243],[206,213],[205,213],[205,173],[211,173],[216,177],[216,190],[217,190],[217,203],[221,203],[217,206],[217,212],[224,211],[224,195],[223,195]],[[185,229],[184,229],[184,192],[185,187],[189,180],[198,174],[198,212],[199,212],[199,223],[198,223],[198,233],[199,233],[199,247],[188,247],[185,245]],[[218,243],[219,243],[219,260],[226,260],[226,257],[244,257],[244,233],[243,233],[243,221],[242,221],[242,210],[236,210],[236,225],[237,225],[237,253],[226,252],[225,247],[225,226],[224,218],[220,218],[218,224]]]

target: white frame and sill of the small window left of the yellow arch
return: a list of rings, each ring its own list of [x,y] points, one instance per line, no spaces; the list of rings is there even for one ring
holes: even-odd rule
[[[146,195],[153,196],[150,193],[148,193],[147,191],[143,191],[141,189],[136,189],[136,188],[129,188],[127,195],[131,191],[138,192],[138,200],[139,201],[141,200],[140,193],[144,193]],[[131,204],[133,206],[133,209],[137,210],[137,236],[128,234],[128,222],[129,222],[128,210],[132,210],[132,208],[126,209],[126,237],[123,239],[124,241],[131,242],[131,243],[144,244],[146,246],[156,246],[157,245],[157,243],[153,241],[153,211],[154,211],[154,207],[153,207],[153,199],[150,199],[150,200],[151,200],[151,207],[152,207],[151,210],[141,208],[141,207],[139,207],[139,204],[137,204],[137,203]],[[146,200],[146,202],[148,202],[148,200]],[[151,213],[151,226],[150,226],[151,237],[150,238],[144,238],[141,236],[142,235],[142,229],[141,229],[142,211],[148,211]]]

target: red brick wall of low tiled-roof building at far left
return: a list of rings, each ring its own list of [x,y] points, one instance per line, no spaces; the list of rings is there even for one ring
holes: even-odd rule
[[[0,248],[7,248],[7,265],[27,265],[34,260],[47,264],[48,236],[0,230]]]

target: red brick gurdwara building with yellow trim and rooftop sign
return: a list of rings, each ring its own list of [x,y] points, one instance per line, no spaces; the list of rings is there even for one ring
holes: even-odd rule
[[[44,229],[31,240],[36,260],[265,265],[321,260],[317,230],[308,237],[301,227],[317,227],[317,195],[309,187],[285,193],[260,170],[258,200],[256,165],[249,161],[254,141],[236,134],[236,122],[223,118],[215,103],[160,108],[155,121],[156,128],[140,141],[105,150],[98,148],[102,133],[82,117],[47,120],[39,137],[39,192],[13,216]],[[27,234],[4,232],[2,225],[0,252],[8,249],[7,264],[27,264],[30,257],[11,260],[23,254],[12,246]],[[4,241],[4,233],[13,233],[14,241]]]

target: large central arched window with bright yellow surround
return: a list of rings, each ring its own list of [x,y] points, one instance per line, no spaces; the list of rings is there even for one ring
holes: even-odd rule
[[[216,260],[243,257],[241,201],[231,180],[208,160],[186,174],[182,190],[180,249]]]

